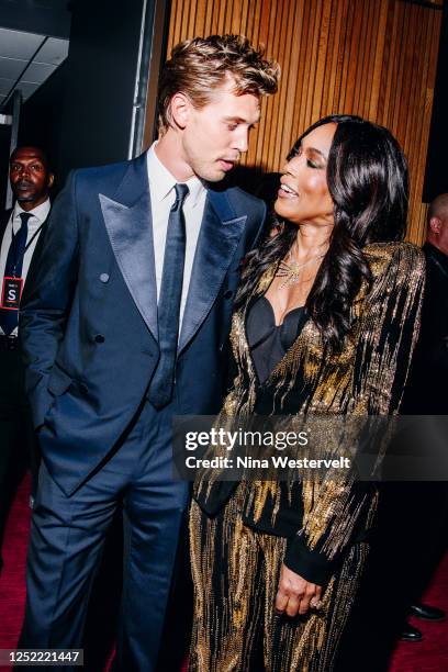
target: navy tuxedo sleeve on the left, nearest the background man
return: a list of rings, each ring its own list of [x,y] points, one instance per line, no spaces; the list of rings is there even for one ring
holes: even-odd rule
[[[20,310],[25,385],[37,428],[51,405],[48,376],[70,312],[78,276],[76,172],[56,199],[38,261],[32,265]]]

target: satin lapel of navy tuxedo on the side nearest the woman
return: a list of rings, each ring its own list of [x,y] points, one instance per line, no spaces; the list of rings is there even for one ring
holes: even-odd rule
[[[222,206],[222,202],[223,197],[220,197],[219,205],[215,202],[213,206],[210,198],[205,203],[183,314],[179,351],[191,340],[209,314],[246,224],[247,215],[223,219],[223,215],[229,213]]]

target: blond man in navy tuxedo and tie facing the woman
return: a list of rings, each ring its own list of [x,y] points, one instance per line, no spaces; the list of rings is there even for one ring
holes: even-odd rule
[[[116,668],[155,668],[188,486],[171,419],[217,411],[242,257],[265,205],[217,183],[247,150],[278,66],[243,37],[178,45],[161,74],[159,139],[74,171],[25,292],[21,338],[43,455],[21,648],[79,648],[121,502]]]

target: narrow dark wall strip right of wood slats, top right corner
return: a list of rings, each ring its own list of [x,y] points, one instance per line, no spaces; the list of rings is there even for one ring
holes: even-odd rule
[[[448,192],[448,1],[444,3],[437,79],[434,91],[423,201],[429,203]]]

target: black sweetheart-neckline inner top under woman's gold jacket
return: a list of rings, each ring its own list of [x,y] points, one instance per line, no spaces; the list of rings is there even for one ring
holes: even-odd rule
[[[283,358],[305,322],[306,309],[304,305],[289,311],[284,315],[283,323],[277,326],[270,301],[266,296],[260,296],[254,303],[247,315],[246,333],[260,383],[266,381]]]

